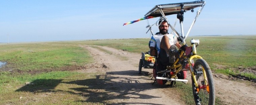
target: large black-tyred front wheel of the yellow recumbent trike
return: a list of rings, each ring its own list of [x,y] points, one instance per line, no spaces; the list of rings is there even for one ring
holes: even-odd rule
[[[193,70],[198,84],[198,88],[196,88],[192,77],[192,90],[196,105],[214,105],[215,86],[209,65],[203,59],[198,59],[194,64]],[[205,74],[207,78],[204,78],[203,74]]]

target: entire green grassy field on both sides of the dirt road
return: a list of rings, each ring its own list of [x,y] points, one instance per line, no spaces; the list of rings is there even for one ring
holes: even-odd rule
[[[256,68],[255,35],[193,38],[200,39],[197,53],[215,73],[242,74],[251,79],[256,78],[255,74],[238,71],[239,68]],[[88,83],[94,86],[88,87],[76,82],[83,81],[85,84],[84,82],[89,82],[85,81],[87,79],[94,79],[99,83],[107,81],[103,78],[95,79],[99,73],[79,74],[64,69],[93,62],[88,51],[79,45],[109,46],[141,53],[149,50],[148,42],[149,39],[116,39],[0,44],[0,61],[7,62],[6,66],[0,68],[0,104],[107,104],[107,99],[90,99],[89,95],[97,89],[97,85]],[[175,89],[191,91],[191,86],[187,85],[190,84]],[[74,90],[79,88],[90,92],[83,91],[81,94],[81,90]],[[102,89],[102,93],[107,92]],[[183,95],[184,99],[189,95],[191,94]]]

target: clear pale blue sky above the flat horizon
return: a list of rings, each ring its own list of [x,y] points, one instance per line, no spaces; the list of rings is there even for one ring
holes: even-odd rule
[[[8,41],[7,34],[9,42],[150,38],[147,20],[123,24],[143,17],[155,5],[190,1],[195,0],[1,0],[0,43]],[[189,35],[256,34],[255,0],[205,1]],[[195,13],[184,15],[185,34]],[[174,24],[175,17],[167,18]]]

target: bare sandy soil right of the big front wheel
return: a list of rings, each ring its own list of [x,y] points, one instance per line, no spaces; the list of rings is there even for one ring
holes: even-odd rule
[[[256,84],[243,79],[214,74],[216,96],[226,105],[254,105]]]

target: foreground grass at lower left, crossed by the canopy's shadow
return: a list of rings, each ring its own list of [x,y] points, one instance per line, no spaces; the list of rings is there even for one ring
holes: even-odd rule
[[[98,84],[102,81],[104,83],[105,76],[97,77],[100,77],[100,73],[55,71],[31,75],[1,72],[0,104],[103,105],[107,100],[91,96],[96,94],[95,89],[102,89],[100,92],[108,93]]]

